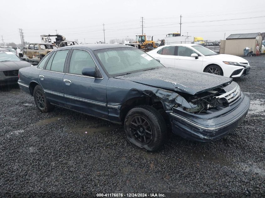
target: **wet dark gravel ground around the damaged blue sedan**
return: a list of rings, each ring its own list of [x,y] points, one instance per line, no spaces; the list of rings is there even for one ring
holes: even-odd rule
[[[251,99],[245,121],[212,143],[170,135],[156,153],[129,143],[119,125],[61,108],[41,113],[18,86],[1,89],[1,197],[265,197],[265,56],[245,58],[251,74],[236,80]]]

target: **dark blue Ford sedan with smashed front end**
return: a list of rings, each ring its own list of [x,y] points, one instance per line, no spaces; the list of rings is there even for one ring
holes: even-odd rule
[[[219,140],[250,105],[231,78],[166,68],[125,45],[58,48],[19,78],[41,112],[57,105],[123,124],[130,142],[149,151],[164,144],[168,127],[189,140]]]

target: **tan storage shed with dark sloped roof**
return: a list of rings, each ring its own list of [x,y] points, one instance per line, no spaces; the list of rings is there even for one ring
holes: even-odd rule
[[[231,34],[223,43],[222,53],[243,56],[246,47],[250,48],[249,51],[256,53],[257,43],[261,48],[261,33]]]

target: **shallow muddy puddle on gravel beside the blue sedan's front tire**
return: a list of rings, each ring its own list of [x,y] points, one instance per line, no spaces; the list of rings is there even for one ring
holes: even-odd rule
[[[73,126],[68,132],[74,132],[79,135],[93,135],[95,133],[102,133],[109,130],[118,129],[119,124],[112,124],[110,122],[104,122],[103,120],[97,122],[99,119],[87,119],[81,120],[77,125]],[[92,124],[97,122],[95,124]],[[103,125],[104,124],[104,125]],[[103,126],[98,126],[103,125]]]

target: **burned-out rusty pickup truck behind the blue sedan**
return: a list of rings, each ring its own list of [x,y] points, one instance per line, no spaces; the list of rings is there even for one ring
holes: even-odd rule
[[[30,43],[28,47],[22,50],[22,53],[23,57],[28,62],[40,61],[42,58],[45,57],[45,55],[47,55],[56,48],[57,47],[52,44]]]

